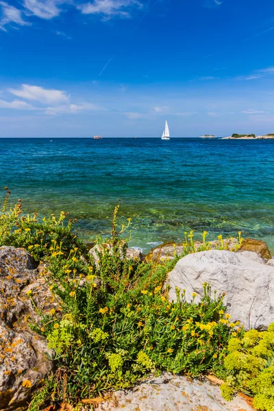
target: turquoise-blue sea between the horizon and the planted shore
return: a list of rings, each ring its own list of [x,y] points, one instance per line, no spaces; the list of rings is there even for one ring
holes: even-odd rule
[[[274,251],[274,140],[201,138],[0,139],[0,186],[23,211],[69,211],[85,240],[108,234],[121,199],[131,245],[253,236]]]

